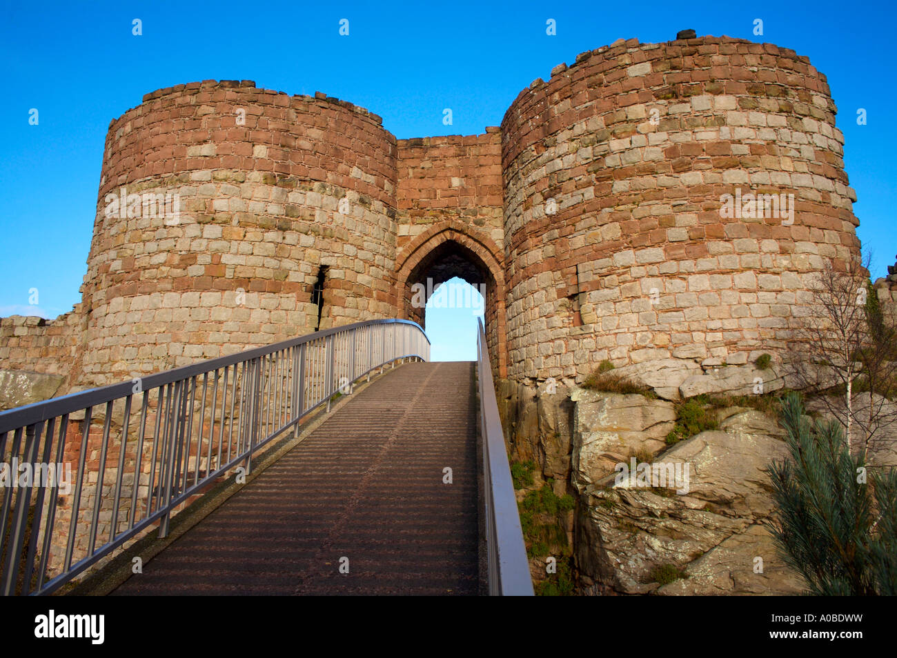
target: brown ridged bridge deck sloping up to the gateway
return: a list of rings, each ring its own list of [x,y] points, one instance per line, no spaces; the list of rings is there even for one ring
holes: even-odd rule
[[[478,593],[475,364],[353,395],[114,594]]]

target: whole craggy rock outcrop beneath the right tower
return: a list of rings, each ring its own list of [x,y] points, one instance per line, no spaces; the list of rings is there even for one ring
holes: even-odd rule
[[[751,364],[687,370],[694,374],[677,391],[688,396],[753,394],[757,377],[763,393],[783,385],[775,368]],[[712,411],[718,429],[668,446],[667,435],[678,427],[677,407],[668,400],[582,388],[550,393],[544,383],[536,389],[504,381],[499,388],[511,459],[536,463],[558,495],[578,499],[573,553],[580,593],[803,592],[766,527],[773,511],[766,468],[787,454],[776,420],[730,406]],[[858,394],[855,403],[861,407],[865,399]],[[686,481],[649,478],[655,486],[641,486],[635,473],[618,479],[616,470],[633,458],[650,463],[649,472],[678,472]],[[882,430],[870,461],[897,464],[897,426]]]

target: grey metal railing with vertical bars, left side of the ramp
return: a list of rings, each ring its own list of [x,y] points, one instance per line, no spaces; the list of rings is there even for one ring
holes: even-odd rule
[[[0,412],[0,466],[14,478],[16,460],[33,466],[30,480],[0,488],[0,593],[52,593],[157,521],[166,536],[200,489],[240,464],[248,474],[253,455],[297,436],[311,411],[408,358],[430,359],[420,325],[370,320]],[[78,420],[68,496],[58,471]]]

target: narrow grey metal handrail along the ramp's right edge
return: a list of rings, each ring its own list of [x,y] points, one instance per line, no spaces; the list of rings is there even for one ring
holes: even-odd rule
[[[480,430],[483,437],[483,500],[486,519],[489,593],[492,596],[533,596],[527,547],[523,541],[508,453],[495,400],[492,367],[486,349],[483,320],[476,334],[476,379],[480,390]]]

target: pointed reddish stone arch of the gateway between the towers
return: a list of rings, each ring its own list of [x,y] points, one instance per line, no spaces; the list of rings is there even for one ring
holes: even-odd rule
[[[478,290],[482,290],[480,286],[485,288],[483,323],[496,377],[508,376],[503,260],[500,248],[492,239],[459,221],[432,226],[402,247],[396,257],[399,312],[403,318],[421,326],[424,326],[425,309],[412,303],[415,283],[424,286],[427,299],[432,290],[456,276]],[[432,280],[431,286],[427,286],[427,279]]]

